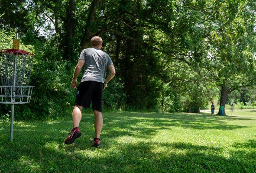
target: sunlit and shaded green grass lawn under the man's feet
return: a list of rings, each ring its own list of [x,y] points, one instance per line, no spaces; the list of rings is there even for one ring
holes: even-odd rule
[[[99,149],[91,147],[93,123],[83,114],[82,136],[71,145],[71,116],[15,122],[13,142],[9,123],[0,123],[0,173],[256,172],[256,112],[104,113]]]

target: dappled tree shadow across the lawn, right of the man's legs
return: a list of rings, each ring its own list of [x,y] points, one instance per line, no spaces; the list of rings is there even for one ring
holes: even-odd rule
[[[194,129],[222,129],[233,130],[237,128],[246,128],[242,125],[228,125],[223,120],[238,120],[236,118],[225,117],[221,120],[217,117],[209,117],[205,115],[188,115],[188,114],[143,114],[143,113],[131,113],[129,116],[125,113],[122,116],[111,116],[110,119],[104,119],[104,123],[107,126],[119,127],[119,128],[133,128],[132,125],[136,125],[136,129],[140,131],[140,125],[143,129],[147,127],[154,127],[152,130],[157,129],[169,129],[172,127],[182,128],[194,128]],[[248,120],[247,118],[239,118],[239,120]],[[144,126],[143,126],[144,125]]]

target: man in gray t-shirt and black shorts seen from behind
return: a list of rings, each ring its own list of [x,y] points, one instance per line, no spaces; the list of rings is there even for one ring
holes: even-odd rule
[[[94,128],[95,138],[94,147],[100,147],[100,131],[103,124],[102,119],[102,97],[103,90],[107,87],[107,83],[113,79],[116,74],[113,62],[108,54],[101,51],[102,39],[98,36],[91,38],[91,48],[84,49],[78,59],[78,64],[75,67],[71,88],[77,86],[77,77],[81,72],[81,68],[85,64],[84,75],[78,85],[75,106],[72,112],[73,129],[70,135],[65,140],[65,144],[72,144],[75,139],[81,136],[81,131],[78,128],[82,118],[82,108],[90,107],[94,111]],[[106,68],[110,70],[110,74],[106,77]]]

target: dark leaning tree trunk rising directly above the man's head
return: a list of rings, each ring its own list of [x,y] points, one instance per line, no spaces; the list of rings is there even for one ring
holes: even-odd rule
[[[91,2],[90,11],[85,24],[84,34],[81,40],[81,50],[90,46],[91,37],[93,36],[93,33],[91,32],[91,23],[95,21],[95,14],[100,1],[101,0],[93,0]]]

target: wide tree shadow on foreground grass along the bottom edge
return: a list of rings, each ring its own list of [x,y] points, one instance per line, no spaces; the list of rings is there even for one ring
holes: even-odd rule
[[[52,142],[42,147],[30,148],[30,152],[23,150],[16,153],[16,157],[6,159],[15,160],[16,167],[13,167],[13,172],[38,166],[38,172],[231,173],[253,172],[256,166],[256,152],[245,154],[242,144],[239,145],[240,151],[230,152],[228,157],[221,155],[224,152],[222,147],[179,142],[137,142],[115,147],[112,150],[91,149],[71,151],[68,154],[60,150],[57,143]],[[89,156],[86,152],[93,154]]]

